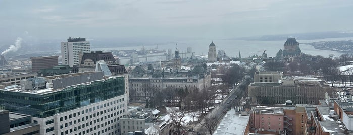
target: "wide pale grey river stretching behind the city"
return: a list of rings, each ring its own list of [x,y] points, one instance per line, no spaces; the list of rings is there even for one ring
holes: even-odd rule
[[[327,38],[327,39],[317,39],[317,40],[297,40],[301,52],[311,55],[321,55],[328,57],[330,54],[335,56],[340,56],[344,54],[343,52],[330,51],[330,50],[319,50],[315,49],[311,45],[300,44],[300,43],[310,43],[318,41],[339,41],[339,40],[349,40],[352,38]],[[263,50],[266,50],[268,57],[276,56],[276,53],[279,49],[283,49],[283,44],[285,41],[247,41],[247,40],[213,40],[216,45],[217,50],[225,50],[226,54],[231,57],[237,57],[239,51],[241,57],[248,57],[256,55],[261,55]],[[192,48],[192,52],[195,52],[196,55],[203,54],[207,55],[209,45],[211,40],[185,40],[178,41],[178,50],[179,53],[186,52],[187,47]],[[172,49],[173,53],[176,48],[176,43],[163,43],[158,45],[159,50],[168,50]],[[128,47],[114,47],[114,48],[91,48],[91,50],[127,50],[127,49],[136,49],[139,50],[142,46],[128,46]],[[146,49],[152,49],[156,46],[144,46]]]

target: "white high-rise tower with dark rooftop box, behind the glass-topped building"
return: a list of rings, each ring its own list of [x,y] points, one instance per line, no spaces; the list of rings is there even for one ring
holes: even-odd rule
[[[78,52],[89,53],[90,44],[85,38],[71,38],[67,42],[61,42],[62,64],[73,67],[80,62]]]

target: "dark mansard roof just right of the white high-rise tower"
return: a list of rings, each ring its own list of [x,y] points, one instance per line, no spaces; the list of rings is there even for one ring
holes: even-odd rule
[[[115,62],[115,58],[112,54],[112,52],[95,52],[95,53],[83,53],[81,64],[84,64],[85,59],[92,59],[94,61],[94,64],[97,63],[99,60],[104,60],[104,61],[113,61]]]

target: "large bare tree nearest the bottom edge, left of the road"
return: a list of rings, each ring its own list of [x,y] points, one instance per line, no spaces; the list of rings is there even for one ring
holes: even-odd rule
[[[177,134],[181,134],[180,129],[184,127],[183,123],[185,123],[185,119],[183,119],[183,117],[185,117],[185,114],[178,109],[173,108],[169,113],[169,116],[174,127],[177,128]]]

